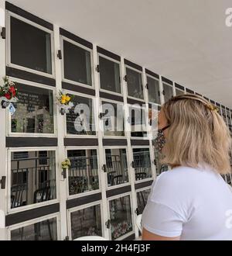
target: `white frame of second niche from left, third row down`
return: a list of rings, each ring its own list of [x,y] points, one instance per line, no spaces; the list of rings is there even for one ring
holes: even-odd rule
[[[80,197],[84,197],[87,195],[94,195],[97,194],[99,192],[101,192],[101,168],[100,168],[100,163],[99,163],[99,149],[98,146],[72,146],[72,147],[65,147],[65,152],[66,152],[66,158],[67,158],[67,151],[68,150],[97,150],[97,168],[98,168],[98,181],[99,181],[99,189],[95,189],[95,190],[91,190],[88,192],[83,192],[83,193],[79,193],[79,194],[74,194],[74,195],[70,195],[69,192],[69,184],[68,184],[68,180],[69,177],[67,175],[67,181],[66,181],[66,187],[67,187],[67,199],[77,199]]]

